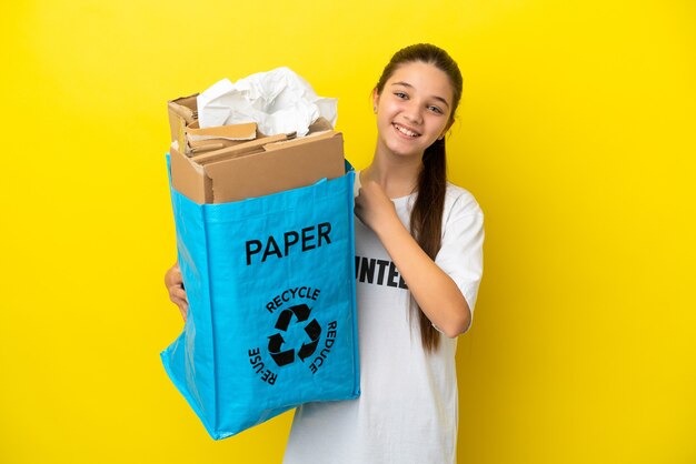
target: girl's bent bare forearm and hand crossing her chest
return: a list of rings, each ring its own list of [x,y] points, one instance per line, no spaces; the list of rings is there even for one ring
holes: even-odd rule
[[[449,337],[466,332],[471,313],[461,291],[418,245],[377,182],[367,181],[361,185],[356,198],[356,214],[385,245],[430,322]]]

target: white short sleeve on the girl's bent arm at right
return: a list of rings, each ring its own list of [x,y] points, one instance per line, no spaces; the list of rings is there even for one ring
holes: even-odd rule
[[[435,262],[457,284],[471,316],[484,272],[484,213],[466,190],[450,185],[443,212],[443,242]]]

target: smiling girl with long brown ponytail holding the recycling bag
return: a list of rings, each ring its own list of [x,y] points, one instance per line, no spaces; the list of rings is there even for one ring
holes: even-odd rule
[[[461,83],[444,50],[416,44],[372,91],[377,145],[356,176],[361,396],[298,407],[286,464],[456,462],[456,337],[471,323],[484,241],[476,200],[446,181]],[[186,317],[178,266],[166,283]]]

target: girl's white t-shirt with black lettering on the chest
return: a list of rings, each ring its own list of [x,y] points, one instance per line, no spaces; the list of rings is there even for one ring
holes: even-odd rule
[[[359,175],[356,175],[356,193]],[[394,200],[408,228],[415,194]],[[360,350],[358,400],[297,408],[285,464],[454,464],[458,394],[456,339],[440,334],[427,354],[409,292],[377,235],[356,218]],[[484,214],[474,196],[449,184],[443,244],[435,262],[474,311],[483,273]]]

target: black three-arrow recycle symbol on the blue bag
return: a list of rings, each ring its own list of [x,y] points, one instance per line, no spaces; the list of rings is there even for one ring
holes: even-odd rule
[[[276,329],[282,332],[287,332],[288,326],[290,325],[290,321],[292,320],[292,314],[295,314],[295,317],[299,323],[307,321],[310,313],[311,309],[306,304],[298,304],[296,306],[288,307],[287,310],[282,310],[282,312],[278,314]],[[319,344],[321,326],[316,319],[312,319],[307,325],[305,325],[305,333],[309,336],[309,342],[302,343],[302,346],[300,346],[297,353],[297,356],[302,362],[305,362],[307,357],[312,355],[315,350],[317,350],[317,345]],[[268,351],[279,367],[295,362],[295,349],[281,351],[284,343],[285,339],[282,337],[282,334],[280,332],[275,333],[268,337]]]

